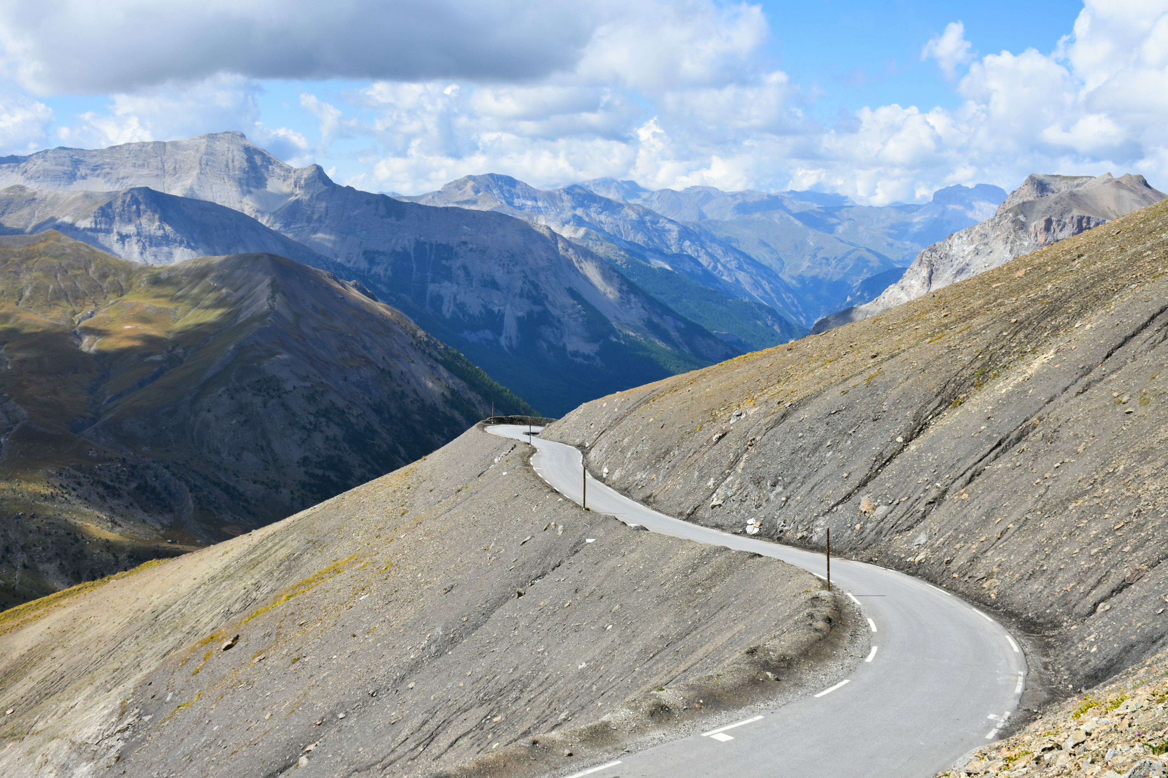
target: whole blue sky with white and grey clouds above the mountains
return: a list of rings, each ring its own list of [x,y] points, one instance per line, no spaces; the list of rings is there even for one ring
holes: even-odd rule
[[[0,153],[242,130],[409,194],[487,172],[872,204],[1031,172],[1168,186],[1168,0],[279,8],[0,0]]]

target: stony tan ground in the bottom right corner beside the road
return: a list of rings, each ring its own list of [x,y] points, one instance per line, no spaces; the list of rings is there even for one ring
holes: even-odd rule
[[[1152,778],[1168,765],[1168,653],[1052,706],[938,776]]]

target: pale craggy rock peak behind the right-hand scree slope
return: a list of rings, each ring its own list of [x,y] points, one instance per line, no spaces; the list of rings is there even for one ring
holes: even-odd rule
[[[816,322],[815,332],[888,311],[1166,196],[1152,188],[1142,175],[1127,174],[1118,179],[1110,173],[1098,178],[1030,175],[1009,194],[993,218],[930,245],[917,256],[901,280],[878,298],[827,317]]]

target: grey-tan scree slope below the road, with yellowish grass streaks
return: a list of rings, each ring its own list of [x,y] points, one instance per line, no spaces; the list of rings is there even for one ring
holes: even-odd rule
[[[860,659],[858,617],[809,574],[585,513],[529,453],[474,428],[279,523],[8,611],[0,772],[570,771]]]

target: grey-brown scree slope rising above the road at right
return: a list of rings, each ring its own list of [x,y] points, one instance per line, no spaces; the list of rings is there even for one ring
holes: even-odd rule
[[[1166,265],[1160,203],[544,436],[670,515],[815,548],[830,528],[1013,617],[1078,688],[1166,646]]]

